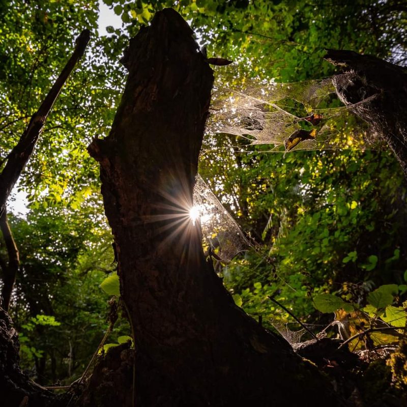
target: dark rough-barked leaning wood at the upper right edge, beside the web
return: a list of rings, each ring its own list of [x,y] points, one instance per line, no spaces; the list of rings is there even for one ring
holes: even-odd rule
[[[333,79],[339,99],[386,140],[407,178],[407,70],[347,50],[325,59],[344,67]]]

